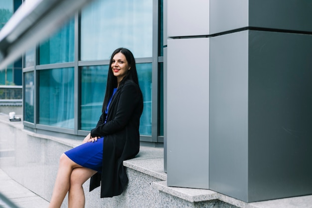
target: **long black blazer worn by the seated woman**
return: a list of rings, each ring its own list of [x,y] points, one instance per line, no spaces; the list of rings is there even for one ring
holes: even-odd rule
[[[143,97],[140,87],[125,80],[117,89],[109,106],[107,122],[103,113],[92,137],[104,137],[102,174],[91,177],[90,191],[101,186],[101,198],[118,196],[128,183],[123,161],[135,157],[140,150],[140,117]]]

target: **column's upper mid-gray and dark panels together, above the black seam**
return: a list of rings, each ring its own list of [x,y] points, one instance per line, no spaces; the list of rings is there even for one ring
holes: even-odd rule
[[[312,31],[311,0],[210,0],[210,34],[247,26]]]

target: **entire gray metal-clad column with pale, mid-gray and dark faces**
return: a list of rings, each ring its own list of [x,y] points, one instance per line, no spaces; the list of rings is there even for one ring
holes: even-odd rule
[[[312,2],[167,8],[168,186],[245,202],[312,194]]]

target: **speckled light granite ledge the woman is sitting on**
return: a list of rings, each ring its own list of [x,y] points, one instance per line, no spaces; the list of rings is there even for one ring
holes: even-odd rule
[[[9,138],[9,139],[8,139]],[[0,168],[13,180],[49,201],[59,156],[81,141],[37,134],[0,115]],[[137,157],[124,161],[129,184],[117,197],[100,199],[100,190],[89,192],[86,208],[312,208],[312,196],[245,203],[211,190],[167,187],[163,148],[141,147]],[[44,184],[44,186],[41,186]],[[62,208],[67,208],[65,199]]]

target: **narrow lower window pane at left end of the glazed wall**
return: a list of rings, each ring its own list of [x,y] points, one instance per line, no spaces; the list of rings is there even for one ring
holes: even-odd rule
[[[24,121],[34,122],[34,73],[24,73]]]

